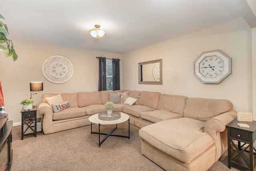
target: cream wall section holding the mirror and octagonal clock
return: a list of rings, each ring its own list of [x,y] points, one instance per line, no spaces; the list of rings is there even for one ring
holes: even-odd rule
[[[229,99],[235,110],[252,112],[251,30],[239,18],[124,54],[123,89]],[[219,84],[204,84],[194,76],[194,60],[216,49],[232,58],[232,74]],[[138,84],[138,63],[161,58],[163,85]]]

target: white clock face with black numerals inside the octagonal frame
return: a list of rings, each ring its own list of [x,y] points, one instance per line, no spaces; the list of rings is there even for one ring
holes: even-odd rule
[[[224,61],[218,56],[206,56],[199,63],[199,72],[205,78],[216,78],[224,72]]]

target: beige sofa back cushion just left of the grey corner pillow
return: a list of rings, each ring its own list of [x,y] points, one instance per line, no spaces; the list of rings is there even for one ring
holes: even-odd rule
[[[100,91],[78,92],[78,107],[102,104]]]

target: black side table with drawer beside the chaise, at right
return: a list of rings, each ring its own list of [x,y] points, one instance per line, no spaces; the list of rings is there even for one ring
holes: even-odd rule
[[[240,127],[237,123],[246,123],[250,127]],[[256,139],[256,121],[244,122],[235,119],[226,127],[228,129],[228,168],[234,164],[253,171],[256,165],[256,149],[253,146]],[[238,142],[237,145],[234,140]],[[231,154],[232,146],[236,151]]]

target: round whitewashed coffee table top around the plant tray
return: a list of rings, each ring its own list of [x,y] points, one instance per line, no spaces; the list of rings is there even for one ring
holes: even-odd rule
[[[96,113],[89,117],[89,121],[92,123],[100,124],[100,125],[112,125],[112,124],[118,124],[118,123],[123,123],[125,121],[128,121],[129,115],[122,113],[122,112],[119,112],[119,113],[121,114],[121,117],[116,120],[111,120],[111,121],[101,120],[98,118],[99,113]]]

